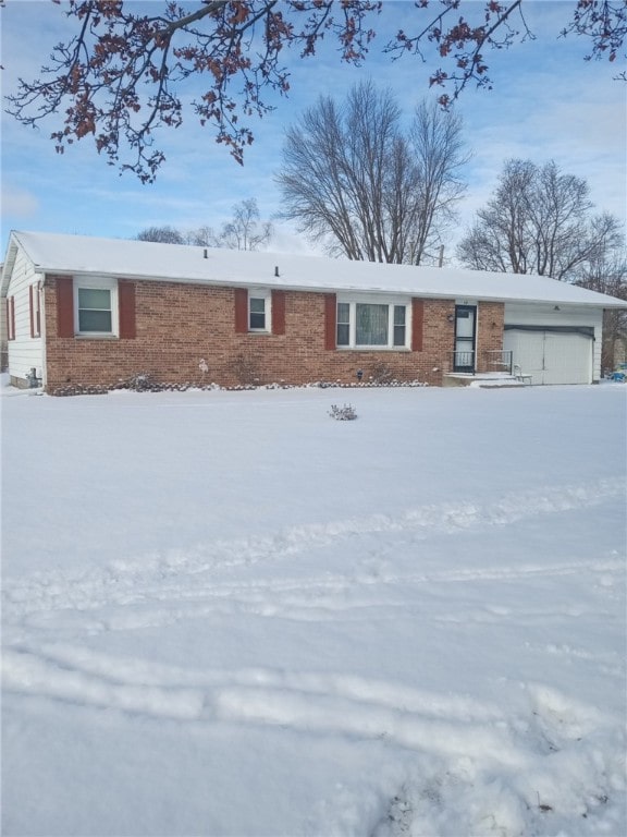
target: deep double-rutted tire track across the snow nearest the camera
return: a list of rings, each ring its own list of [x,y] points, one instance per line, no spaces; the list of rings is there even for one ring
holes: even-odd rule
[[[300,735],[380,740],[444,757],[481,754],[483,767],[526,771],[619,720],[542,686],[512,683],[522,695],[507,715],[495,704],[394,682],[268,668],[190,670],[50,645],[3,656],[5,693],[158,721],[228,723]]]

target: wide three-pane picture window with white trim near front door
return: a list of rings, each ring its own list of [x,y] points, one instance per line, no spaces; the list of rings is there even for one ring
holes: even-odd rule
[[[410,300],[337,302],[336,342],[344,349],[408,349]]]

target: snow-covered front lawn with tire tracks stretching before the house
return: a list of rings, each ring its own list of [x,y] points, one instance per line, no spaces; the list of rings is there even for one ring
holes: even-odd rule
[[[626,834],[626,396],[4,397],[3,836]]]

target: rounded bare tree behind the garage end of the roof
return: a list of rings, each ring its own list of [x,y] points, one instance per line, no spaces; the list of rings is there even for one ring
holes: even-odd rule
[[[587,182],[561,172],[554,161],[540,167],[508,160],[494,196],[460,241],[457,257],[479,270],[576,281],[600,253],[623,242],[619,221],[593,216],[588,195]]]

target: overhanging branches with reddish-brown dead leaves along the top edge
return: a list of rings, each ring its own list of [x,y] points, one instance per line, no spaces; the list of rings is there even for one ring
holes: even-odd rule
[[[589,57],[614,61],[627,28],[625,0],[571,2],[562,35],[582,35],[591,41]],[[185,83],[204,76],[206,89],[190,110],[242,162],[253,142],[246,120],[271,109],[267,92],[290,88],[284,47],[311,57],[330,35],[342,60],[359,63],[380,11],[379,0],[162,0],[160,12],[158,3],[67,0],[75,34],[54,47],[41,77],[20,80],[8,97],[10,112],[29,125],[56,120],[51,137],[60,153],[91,136],[109,163],[149,182],[164,160],[153,145],[157,129],[182,123]],[[431,60],[442,65],[429,84],[445,90],[444,106],[470,82],[491,87],[490,49],[532,37],[522,0],[416,0],[413,12],[415,29],[398,32],[384,51],[426,60],[434,50]]]

